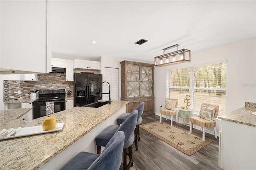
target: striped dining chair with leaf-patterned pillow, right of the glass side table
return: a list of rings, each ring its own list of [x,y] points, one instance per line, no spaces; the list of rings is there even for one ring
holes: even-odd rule
[[[216,132],[216,121],[214,118],[218,117],[219,113],[219,106],[218,105],[211,105],[208,103],[202,103],[201,109],[198,116],[190,117],[189,118],[189,133],[192,133],[192,125],[196,124],[202,127],[202,138],[205,141],[205,128],[213,127],[214,130],[214,137],[217,138]]]

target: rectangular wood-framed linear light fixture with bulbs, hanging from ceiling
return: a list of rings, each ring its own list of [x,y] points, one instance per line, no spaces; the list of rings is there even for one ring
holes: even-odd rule
[[[166,65],[172,65],[172,64],[190,61],[190,50],[188,49],[178,50],[179,46],[180,45],[176,44],[176,45],[172,45],[170,47],[164,48],[163,51],[177,47],[177,51],[173,51],[171,53],[167,53],[167,54],[163,54],[155,57],[155,66],[162,67]]]

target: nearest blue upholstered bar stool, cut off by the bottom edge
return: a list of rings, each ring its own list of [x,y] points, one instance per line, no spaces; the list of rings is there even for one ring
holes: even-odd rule
[[[124,132],[119,131],[109,140],[102,154],[80,152],[61,170],[118,170],[122,162]]]

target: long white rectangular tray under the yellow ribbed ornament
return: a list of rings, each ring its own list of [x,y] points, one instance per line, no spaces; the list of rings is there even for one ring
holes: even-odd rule
[[[56,132],[56,131],[62,130],[63,125],[64,125],[64,123],[57,123],[56,127],[52,130],[43,130],[42,125],[35,126],[35,127],[25,127],[25,128],[21,128],[21,130],[18,131],[16,133],[16,135],[10,136],[11,134],[13,134],[14,130],[16,130],[16,129],[14,129],[5,138],[0,138],[0,140],[10,139],[10,138],[18,138],[18,137],[22,137],[22,136],[30,136],[30,135],[34,135],[34,134]]]

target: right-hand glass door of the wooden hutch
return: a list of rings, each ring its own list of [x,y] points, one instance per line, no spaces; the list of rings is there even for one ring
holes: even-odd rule
[[[141,96],[153,96],[153,68],[142,66]]]

